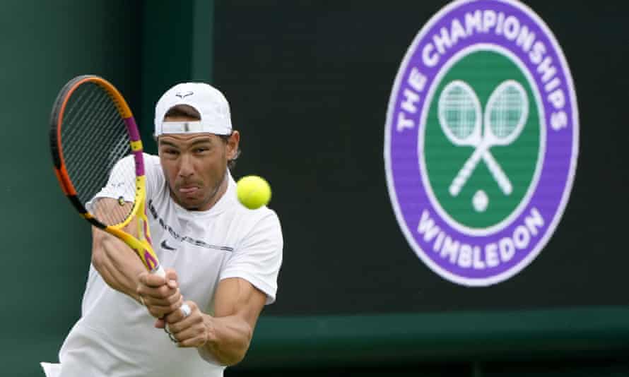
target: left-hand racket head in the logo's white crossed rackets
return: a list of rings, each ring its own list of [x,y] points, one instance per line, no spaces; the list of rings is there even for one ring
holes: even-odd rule
[[[462,80],[445,85],[437,102],[439,124],[454,145],[478,145],[481,139],[481,102]]]

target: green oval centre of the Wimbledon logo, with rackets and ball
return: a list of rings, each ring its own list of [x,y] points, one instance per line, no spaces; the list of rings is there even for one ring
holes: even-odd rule
[[[529,80],[509,57],[480,49],[452,64],[433,93],[423,135],[433,195],[463,227],[498,225],[527,195],[540,158]]]

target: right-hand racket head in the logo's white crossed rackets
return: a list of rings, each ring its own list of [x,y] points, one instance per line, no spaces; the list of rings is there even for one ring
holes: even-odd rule
[[[491,139],[491,145],[509,145],[522,133],[528,117],[527,91],[516,80],[505,80],[487,101],[485,137]]]

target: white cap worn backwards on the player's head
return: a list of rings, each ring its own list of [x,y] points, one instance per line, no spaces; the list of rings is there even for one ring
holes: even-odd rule
[[[201,121],[164,121],[168,110],[178,104],[194,107]],[[229,103],[223,93],[206,83],[181,83],[162,95],[155,105],[155,136],[163,133],[199,133],[230,135],[232,121]]]

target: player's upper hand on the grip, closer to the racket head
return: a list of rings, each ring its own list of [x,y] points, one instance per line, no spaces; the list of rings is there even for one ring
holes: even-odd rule
[[[177,309],[182,305],[183,297],[175,270],[167,269],[165,278],[144,271],[139,275],[136,292],[139,300],[155,318],[162,318],[173,311],[181,312]]]

